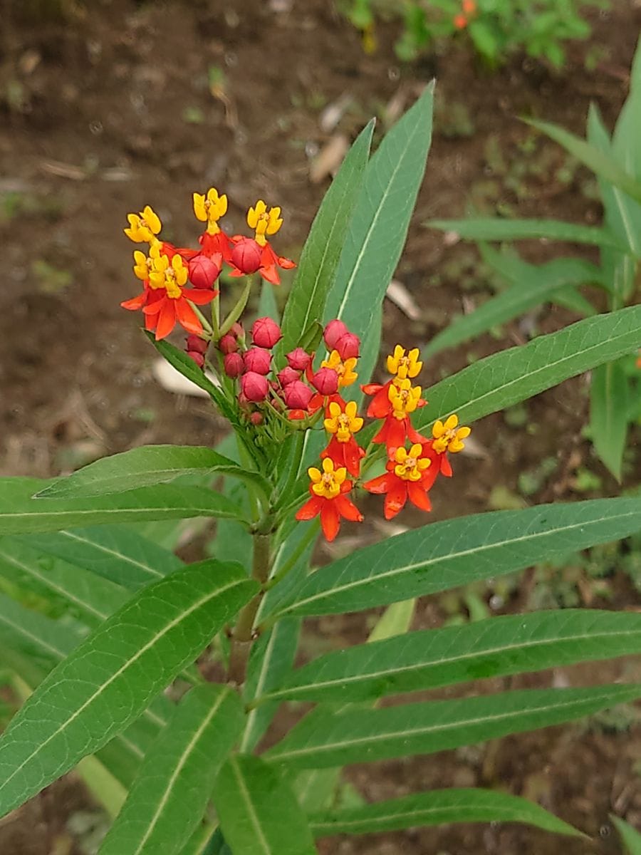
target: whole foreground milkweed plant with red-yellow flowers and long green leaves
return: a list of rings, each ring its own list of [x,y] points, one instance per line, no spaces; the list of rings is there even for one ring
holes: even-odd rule
[[[259,200],[245,233],[227,233],[222,188],[193,194],[195,249],[164,240],[149,206],[128,216],[142,290],[122,305],[207,392],[229,433],[216,448],[143,446],[64,478],[0,481],[0,652],[24,699],[0,739],[3,815],[77,768],[113,817],[101,855],[308,855],[329,835],[438,823],[594,830],[501,786],[337,799],[350,764],[482,743],[641,695],[629,681],[410,694],[641,650],[632,611],[411,631],[416,598],[641,527],[638,496],[429,522],[443,479],[458,469],[453,485],[465,492],[473,478],[460,465],[468,424],[641,345],[632,306],[430,386],[446,366],[422,359],[399,325],[375,368],[430,146],[432,89],[371,157],[373,122],[363,129],[297,266],[279,255],[281,209]],[[273,288],[291,268],[280,317]],[[182,347],[168,341],[179,328]],[[365,509],[391,520],[409,506],[426,514],[419,528],[359,548],[350,540],[316,567],[319,535],[355,534]],[[216,521],[212,557],[185,563],[173,545],[195,517]],[[367,641],[300,663],[306,618],[371,609],[382,611]]]

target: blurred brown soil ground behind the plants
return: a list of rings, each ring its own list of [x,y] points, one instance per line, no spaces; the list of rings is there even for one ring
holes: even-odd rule
[[[488,42],[482,0],[478,8],[472,0],[2,0],[0,475],[47,477],[133,445],[220,439],[224,425],[203,398],[159,380],[138,317],[119,305],[139,290],[122,233],[126,214],[150,204],[163,237],[195,245],[200,227],[191,193],[213,185],[229,197],[229,233],[243,230],[244,211],[257,198],[282,206],[277,250],[297,258],[356,133],[375,115],[380,139],[432,78],[432,151],[385,304],[386,345],[424,346],[503,287],[473,245],[426,221],[474,209],[599,223],[593,174],[518,117],[556,121],[583,135],[594,102],[611,129],[628,91],[641,4],[570,3],[580,11],[578,23],[563,30],[554,21],[551,34],[539,27],[536,42],[532,23],[523,27],[520,0],[494,5],[508,16]],[[555,253],[558,247],[541,241],[522,248],[529,262]],[[589,247],[574,246],[573,255],[595,260]],[[280,304],[289,281],[277,292]],[[238,286],[227,280],[225,287],[232,293]],[[421,380],[429,386],[577,317],[545,304],[439,354]],[[182,345],[178,333],[173,340]],[[587,412],[579,377],[479,422],[457,478],[439,484],[433,518],[620,492],[585,439]],[[623,486],[638,476],[636,428]],[[357,536],[373,540],[398,530],[380,522]],[[354,537],[349,531],[337,549],[350,549]],[[640,573],[641,545],[601,547],[520,580],[434,598],[421,605],[415,628],[491,611],[638,607]],[[308,655],[361,639],[368,620],[317,622]],[[613,667],[597,664],[591,679],[598,669],[610,679]],[[580,672],[573,674],[580,683]],[[549,685],[550,675],[513,682]],[[322,851],[511,855],[534,852],[534,841],[537,852],[550,855],[620,852],[609,811],[625,810],[641,823],[635,723],[630,709],[466,749],[465,756],[447,752],[442,762],[356,768],[345,789],[345,799],[350,787],[378,799],[435,784],[500,782],[562,812],[596,835],[594,845],[470,826],[328,841]],[[71,776],[0,823],[0,852],[93,852],[103,821]]]

